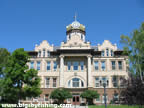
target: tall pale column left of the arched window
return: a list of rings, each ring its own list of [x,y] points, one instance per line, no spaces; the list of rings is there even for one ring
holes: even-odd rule
[[[64,87],[64,56],[60,56],[60,87]]]

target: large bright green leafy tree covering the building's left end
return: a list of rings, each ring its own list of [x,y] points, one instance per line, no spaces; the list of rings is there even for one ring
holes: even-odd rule
[[[23,48],[16,49],[9,57],[4,71],[2,97],[8,103],[18,103],[26,97],[37,97],[40,95],[40,78],[38,72],[29,69],[27,63],[29,56]]]

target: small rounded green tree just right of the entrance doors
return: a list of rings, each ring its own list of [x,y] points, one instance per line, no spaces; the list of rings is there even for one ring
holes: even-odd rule
[[[86,90],[80,96],[85,98],[89,105],[93,104],[93,99],[99,98],[98,92],[94,90]]]

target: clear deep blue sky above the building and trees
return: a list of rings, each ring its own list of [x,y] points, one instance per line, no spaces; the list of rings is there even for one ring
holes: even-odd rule
[[[144,0],[0,0],[0,47],[33,50],[42,40],[58,46],[75,12],[92,45],[108,39],[122,48],[120,36],[144,22]]]

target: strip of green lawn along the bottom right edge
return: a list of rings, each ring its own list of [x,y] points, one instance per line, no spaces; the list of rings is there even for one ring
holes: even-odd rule
[[[88,108],[105,108],[104,105],[98,106],[98,105],[92,105]],[[139,108],[138,106],[128,106],[128,105],[108,105],[107,108]],[[144,108],[144,106],[143,106]]]

